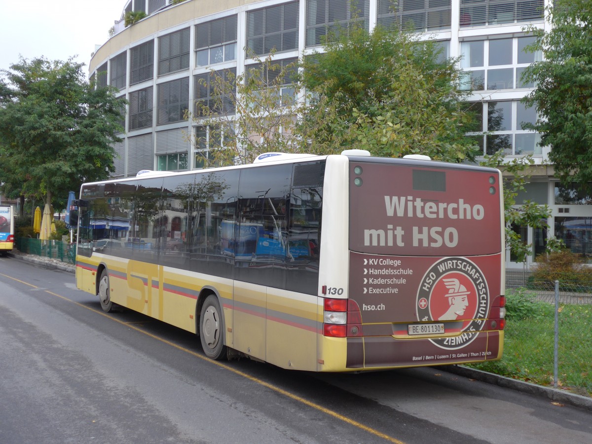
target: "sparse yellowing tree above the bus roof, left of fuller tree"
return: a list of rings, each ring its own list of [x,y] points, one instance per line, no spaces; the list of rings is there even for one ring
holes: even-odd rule
[[[188,139],[204,152],[204,166],[252,163],[267,152],[324,153],[308,140],[318,133],[324,121],[309,119],[297,125],[308,112],[310,94],[305,97],[297,81],[297,63],[274,62],[274,53],[265,59],[253,56],[254,66],[243,75],[212,70],[197,86],[201,91],[195,112],[186,117],[198,120],[198,134]],[[336,112],[326,99],[319,101],[324,117]],[[205,154],[207,153],[207,155]]]

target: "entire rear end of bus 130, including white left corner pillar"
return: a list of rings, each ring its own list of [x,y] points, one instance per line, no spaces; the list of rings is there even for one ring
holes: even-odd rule
[[[320,371],[501,358],[497,169],[329,156],[324,191],[324,210],[342,200],[349,212],[323,213]]]

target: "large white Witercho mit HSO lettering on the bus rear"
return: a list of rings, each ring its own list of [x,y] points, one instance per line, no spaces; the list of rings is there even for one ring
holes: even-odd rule
[[[482,205],[471,205],[463,199],[456,202],[424,202],[412,196],[385,196],[385,210],[388,217],[428,218],[439,220],[474,219],[482,220],[485,209]],[[412,227],[411,241],[414,247],[455,247],[458,244],[458,230],[455,227]],[[387,225],[386,230],[364,230],[365,246],[405,246],[405,230],[400,226]]]

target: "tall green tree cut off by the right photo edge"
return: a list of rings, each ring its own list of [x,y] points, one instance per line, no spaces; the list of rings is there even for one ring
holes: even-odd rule
[[[529,127],[540,145],[551,146],[555,176],[568,186],[590,189],[592,181],[592,8],[589,0],[555,0],[548,9],[551,31],[531,28],[530,47],[543,60],[525,69],[523,81],[536,88],[523,101],[539,117]]]

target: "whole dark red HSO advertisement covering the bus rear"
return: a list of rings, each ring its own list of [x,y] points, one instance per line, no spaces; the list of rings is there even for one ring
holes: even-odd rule
[[[501,292],[499,176],[423,165],[350,165],[349,297],[366,366],[497,358],[485,330]]]

